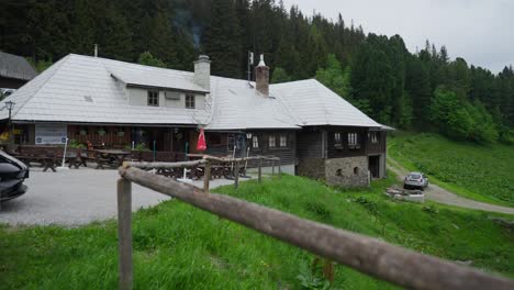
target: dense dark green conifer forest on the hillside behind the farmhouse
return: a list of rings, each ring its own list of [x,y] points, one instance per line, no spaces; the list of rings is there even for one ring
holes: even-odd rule
[[[351,15],[345,15],[350,18]],[[422,32],[420,32],[422,33]],[[315,77],[375,120],[480,143],[514,142],[514,69],[495,75],[427,41],[365,34],[339,15],[306,16],[273,0],[2,0],[0,49],[43,69],[69,53],[245,78],[264,53],[271,81]],[[257,59],[256,59],[257,60]]]

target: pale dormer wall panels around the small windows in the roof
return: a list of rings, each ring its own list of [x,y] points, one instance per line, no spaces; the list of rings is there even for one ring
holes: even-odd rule
[[[128,103],[133,105],[148,105],[148,89],[142,88],[126,88],[125,90]],[[159,91],[159,107],[167,108],[186,108],[186,93],[176,92],[180,96],[178,100],[166,99],[166,92],[164,90]],[[205,109],[205,96],[201,93],[194,94],[194,109],[204,110]]]

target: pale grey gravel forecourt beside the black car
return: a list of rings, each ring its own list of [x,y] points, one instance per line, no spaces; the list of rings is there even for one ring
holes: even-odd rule
[[[116,216],[118,170],[90,168],[43,172],[31,168],[29,191],[2,203],[0,223],[80,225]],[[132,209],[169,199],[150,189],[132,186]]]

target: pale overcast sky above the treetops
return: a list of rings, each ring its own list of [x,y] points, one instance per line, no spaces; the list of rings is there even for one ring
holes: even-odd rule
[[[365,33],[400,34],[409,51],[425,40],[446,45],[449,56],[499,72],[514,65],[514,0],[283,0],[308,15],[322,13],[346,23],[354,20]]]

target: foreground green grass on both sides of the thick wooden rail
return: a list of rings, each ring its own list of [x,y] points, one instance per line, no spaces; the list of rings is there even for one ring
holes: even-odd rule
[[[217,191],[305,219],[375,236],[426,254],[514,277],[514,234],[491,214],[433,203],[389,200],[394,176],[369,190],[338,190],[283,176]],[[136,289],[301,289],[314,256],[180,201],[137,212],[133,220]],[[115,221],[78,228],[0,226],[1,289],[115,289]],[[336,266],[339,289],[391,285]]]

